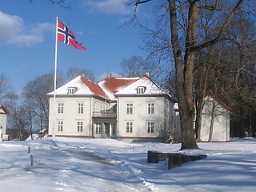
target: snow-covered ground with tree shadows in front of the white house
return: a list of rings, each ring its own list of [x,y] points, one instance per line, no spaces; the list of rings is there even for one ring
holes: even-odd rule
[[[0,142],[0,191],[256,191],[256,139],[198,146],[179,151],[180,144],[74,138]],[[167,161],[146,162],[148,150],[208,158],[167,170]]]

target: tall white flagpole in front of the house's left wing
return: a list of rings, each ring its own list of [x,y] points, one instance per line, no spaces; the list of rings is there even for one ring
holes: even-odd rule
[[[57,53],[58,53],[58,17],[56,17],[56,31],[55,31],[55,64],[54,64],[54,117],[53,117],[53,138],[55,138],[56,131],[56,88],[57,88]]]

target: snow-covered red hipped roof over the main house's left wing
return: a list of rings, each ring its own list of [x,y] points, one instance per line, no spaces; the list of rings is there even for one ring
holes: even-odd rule
[[[70,87],[75,87],[77,90],[73,95],[98,95],[102,98],[107,98],[104,91],[96,84],[90,80],[83,78],[79,75],[77,78],[74,78],[70,82],[67,82],[64,86],[59,87],[55,94],[56,95],[65,95],[68,93]],[[50,92],[48,95],[53,95],[53,92]]]

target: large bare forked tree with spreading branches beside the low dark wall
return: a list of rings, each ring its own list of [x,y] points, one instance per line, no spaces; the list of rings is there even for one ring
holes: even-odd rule
[[[130,0],[137,7],[146,2],[155,2],[153,0]],[[226,35],[227,26],[242,8],[244,0],[233,2],[226,1],[199,1],[187,0],[176,1],[167,0],[166,3],[157,3],[169,14],[170,20],[164,20],[166,25],[169,22],[170,35],[163,35],[160,30],[153,31],[155,36],[165,38],[166,43],[160,44],[162,48],[170,49],[173,52],[173,58],[176,70],[176,89],[178,94],[178,106],[182,126],[182,149],[197,149],[198,146],[194,138],[194,106],[193,106],[193,79],[194,79],[194,62],[199,50],[206,47],[214,46],[218,42],[225,42],[230,39]],[[247,7],[248,8],[248,7]],[[212,26],[209,30],[214,29],[214,36],[209,39],[201,38],[200,25],[198,18],[204,18],[204,13],[212,11],[214,13],[211,21]],[[220,15],[226,15],[223,19]],[[164,15],[162,15],[162,18]],[[134,16],[136,18],[136,15]],[[163,19],[162,19],[163,21]],[[159,25],[159,22],[158,22]],[[158,27],[158,29],[161,27]],[[162,27],[163,29],[163,27]],[[230,30],[230,28],[228,29]],[[166,38],[167,37],[167,38]],[[170,40],[168,40],[170,37]],[[152,39],[152,38],[151,38]],[[169,43],[170,42],[170,43]],[[165,46],[165,47],[164,47]],[[158,46],[157,49],[160,49]]]

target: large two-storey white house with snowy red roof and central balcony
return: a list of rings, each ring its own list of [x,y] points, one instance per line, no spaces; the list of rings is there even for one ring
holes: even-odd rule
[[[173,131],[170,94],[146,75],[98,84],[78,76],[48,96],[49,136],[155,141]]]

